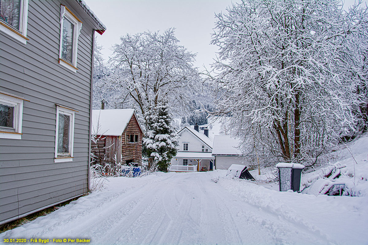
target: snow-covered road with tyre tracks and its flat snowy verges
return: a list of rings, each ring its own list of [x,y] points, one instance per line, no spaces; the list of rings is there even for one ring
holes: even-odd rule
[[[0,234],[91,244],[367,244],[367,197],[277,192],[208,173],[110,178],[93,192]],[[65,244],[65,243],[63,243]]]

